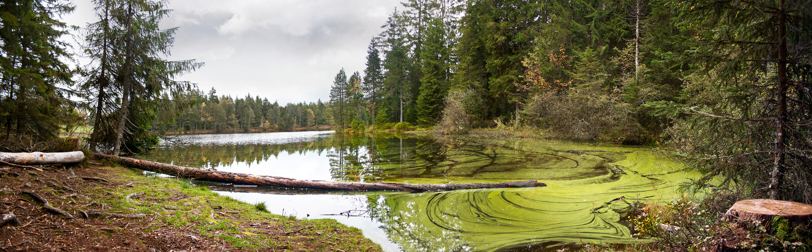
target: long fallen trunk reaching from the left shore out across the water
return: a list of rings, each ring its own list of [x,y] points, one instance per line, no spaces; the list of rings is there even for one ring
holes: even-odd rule
[[[185,166],[150,162],[129,157],[117,157],[96,153],[96,157],[117,161],[125,166],[140,170],[149,170],[168,174],[178,178],[195,178],[221,183],[241,183],[264,187],[289,187],[304,189],[342,190],[342,191],[450,191],[461,189],[508,188],[508,187],[546,187],[545,183],[536,180],[505,183],[449,183],[449,184],[406,184],[406,183],[354,183],[323,180],[303,180],[276,176],[231,173],[219,170],[202,170]]]

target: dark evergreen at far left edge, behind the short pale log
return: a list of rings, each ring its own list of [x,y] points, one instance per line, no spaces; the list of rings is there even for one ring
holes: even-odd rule
[[[67,31],[54,18],[71,11],[59,1],[0,3],[0,124],[6,137],[45,140],[67,123],[71,71],[60,58],[70,56],[58,41]]]

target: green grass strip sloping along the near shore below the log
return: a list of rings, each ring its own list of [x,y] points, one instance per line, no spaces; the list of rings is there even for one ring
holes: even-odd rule
[[[100,195],[95,200],[105,204],[108,212],[147,214],[154,218],[149,229],[194,229],[202,237],[227,241],[238,248],[381,250],[359,229],[335,220],[296,220],[271,214],[265,202],[247,204],[207,187],[195,187],[188,180],[145,176],[141,170],[115,166],[105,170],[114,174],[108,178],[110,183],[132,187],[93,187],[93,193]],[[137,197],[127,201],[127,195],[132,194]]]

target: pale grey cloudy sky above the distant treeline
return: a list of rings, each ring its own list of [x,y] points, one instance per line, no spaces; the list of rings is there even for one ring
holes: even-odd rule
[[[75,0],[63,17],[96,21],[91,0]],[[329,99],[343,68],[363,76],[369,40],[400,0],[171,0],[162,27],[179,27],[170,60],[205,66],[179,80],[208,93],[250,93],[280,104]]]

